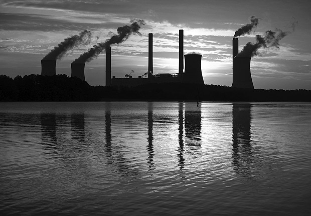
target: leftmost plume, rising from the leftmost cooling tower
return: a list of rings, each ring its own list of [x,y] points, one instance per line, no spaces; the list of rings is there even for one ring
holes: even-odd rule
[[[89,44],[91,41],[91,32],[84,30],[79,33],[79,35],[74,35],[72,37],[66,38],[59,45],[54,47],[42,60],[57,60],[63,58],[68,50],[80,44]]]

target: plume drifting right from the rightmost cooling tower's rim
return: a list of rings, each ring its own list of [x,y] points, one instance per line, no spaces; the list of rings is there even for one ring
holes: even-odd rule
[[[256,42],[248,42],[242,51],[236,57],[253,57],[257,56],[259,48],[279,48],[279,41],[290,32],[283,32],[275,29],[275,32],[269,30],[265,32],[265,36],[256,35]]]

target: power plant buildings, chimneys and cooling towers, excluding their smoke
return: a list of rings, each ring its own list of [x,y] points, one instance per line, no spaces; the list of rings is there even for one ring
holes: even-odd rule
[[[201,70],[200,54],[185,54],[184,55],[184,30],[179,30],[179,70],[177,74],[160,73],[153,74],[153,49],[152,49],[153,34],[148,34],[148,71],[146,78],[138,76],[133,78],[129,75],[127,78],[111,79],[111,47],[107,47],[106,51],[106,86],[138,86],[148,83],[191,83],[202,84],[204,80]],[[238,39],[233,38],[233,82],[232,87],[254,89],[251,73],[250,60],[251,58],[237,57]],[[185,70],[184,70],[185,59]],[[56,75],[56,60],[41,60],[42,72],[41,75],[52,76]],[[71,77],[78,77],[85,81],[84,76],[85,64],[71,64]]]

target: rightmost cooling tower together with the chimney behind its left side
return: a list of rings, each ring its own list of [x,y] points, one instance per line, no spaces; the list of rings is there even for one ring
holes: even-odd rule
[[[250,74],[250,57],[237,57],[239,52],[239,42],[237,38],[232,40],[233,48],[233,76],[232,87],[254,89]]]

